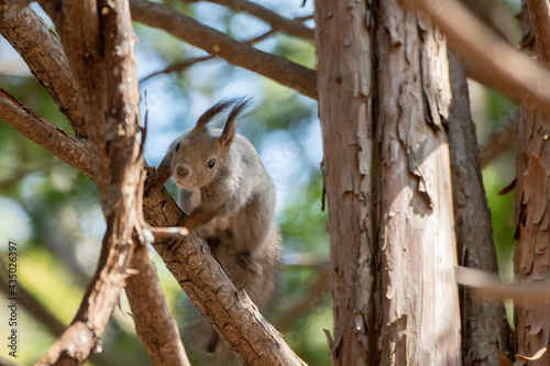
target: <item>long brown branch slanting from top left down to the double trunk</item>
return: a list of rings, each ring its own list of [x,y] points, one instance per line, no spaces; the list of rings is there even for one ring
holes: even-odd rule
[[[163,4],[132,0],[130,5],[133,20],[164,30],[228,63],[257,73],[309,98],[317,99],[315,70],[238,42]]]

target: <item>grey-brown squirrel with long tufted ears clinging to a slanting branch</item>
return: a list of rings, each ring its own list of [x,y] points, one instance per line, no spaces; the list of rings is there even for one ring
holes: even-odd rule
[[[275,186],[254,146],[235,132],[235,119],[249,99],[224,99],[207,110],[196,126],[177,137],[156,169],[157,180],[178,187],[180,226],[195,231],[243,288],[260,311],[270,310],[278,288],[282,245],[275,222]],[[213,117],[232,107],[223,130]],[[198,313],[187,333],[193,347],[228,364],[229,347]],[[186,326],[187,328],[187,326]]]

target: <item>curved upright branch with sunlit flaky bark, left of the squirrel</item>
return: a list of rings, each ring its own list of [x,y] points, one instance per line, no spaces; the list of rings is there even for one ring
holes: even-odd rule
[[[98,270],[75,320],[38,365],[80,364],[94,352],[128,277],[132,252],[139,245],[135,233],[142,233],[140,95],[128,2],[65,0],[62,9],[58,31],[95,147],[107,231]]]

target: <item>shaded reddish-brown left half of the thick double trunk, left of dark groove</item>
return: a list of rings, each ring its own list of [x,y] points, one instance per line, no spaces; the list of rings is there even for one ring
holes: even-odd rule
[[[319,117],[329,208],[332,364],[375,359],[373,14],[362,1],[315,2]]]

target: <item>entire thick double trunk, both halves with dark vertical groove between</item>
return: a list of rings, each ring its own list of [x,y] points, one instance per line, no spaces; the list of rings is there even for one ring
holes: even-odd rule
[[[333,364],[459,365],[444,37],[395,1],[316,24]]]

